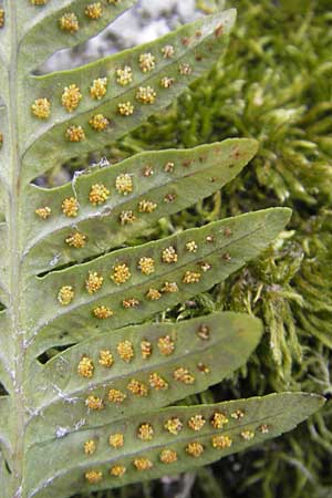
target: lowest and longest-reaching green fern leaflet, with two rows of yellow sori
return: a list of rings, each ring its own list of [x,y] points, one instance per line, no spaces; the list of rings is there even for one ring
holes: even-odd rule
[[[33,465],[30,464],[27,470],[28,497],[68,497],[73,489],[92,491],[186,471],[291,430],[322,405],[323,398],[317,395],[281,393],[214,405],[175,406],[112,423],[100,429],[76,432],[29,450]],[[216,413],[225,416],[224,422],[228,421],[219,429],[211,424]],[[191,417],[197,415],[203,417],[205,424],[195,430],[190,424]],[[178,418],[183,424],[177,435],[165,429],[165,424],[172,418]],[[153,427],[151,440],[137,437],[142,424]],[[114,434],[124,436],[120,448],[110,446],[110,436]],[[93,455],[84,454],[84,444],[89,440],[95,442]],[[188,445],[193,443],[196,443],[196,450],[197,444],[201,445],[199,456],[188,453]],[[165,448],[176,453],[176,461],[166,464],[160,460]],[[45,459],[45,455],[51,457]],[[152,467],[138,470],[134,464],[137,459],[147,459]],[[125,467],[122,477],[110,474],[115,466]],[[91,471],[102,474],[100,483],[87,483],[85,475]]]

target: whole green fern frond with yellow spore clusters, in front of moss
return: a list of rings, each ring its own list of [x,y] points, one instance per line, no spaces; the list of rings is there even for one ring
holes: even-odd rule
[[[261,324],[234,312],[154,320],[257,257],[289,210],[124,247],[231,180],[255,141],[146,152],[59,188],[35,185],[172,103],[219,58],[235,22],[229,10],[37,75],[54,51],[87,40],[132,3],[0,2],[2,498],[61,498],[184,471],[289,430],[322,403],[281,393],[169,406],[243,364]]]

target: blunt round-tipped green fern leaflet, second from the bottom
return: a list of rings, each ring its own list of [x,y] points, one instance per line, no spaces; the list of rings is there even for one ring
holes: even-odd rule
[[[70,347],[46,363],[31,382],[33,419],[28,444],[53,438],[59,426],[65,427],[66,434],[75,430],[79,421],[84,421],[84,429],[97,427],[204,391],[247,361],[261,332],[259,320],[225,312],[180,323],[129,326]],[[149,354],[144,357],[146,342]],[[123,354],[125,344],[131,354],[127,350]],[[103,351],[112,354],[108,367],[100,364]],[[93,362],[91,377],[79,373],[83,357]],[[188,378],[175,378],[179,367],[188,371]],[[152,374],[162,377],[159,388]],[[144,395],[128,388],[133,378],[146,387]],[[110,388],[121,391],[126,398],[120,404],[110,401]],[[87,407],[89,396],[102,400],[103,408]]]

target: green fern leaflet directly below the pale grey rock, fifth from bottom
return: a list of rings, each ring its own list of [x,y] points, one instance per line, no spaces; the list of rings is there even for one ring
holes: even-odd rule
[[[33,179],[59,163],[101,148],[107,143],[127,134],[144,120],[170,104],[189,83],[207,71],[227,46],[228,34],[235,22],[235,10],[199,19],[191,24],[169,33],[158,41],[131,49],[120,54],[100,60],[76,70],[51,73],[45,76],[25,76],[24,102],[48,98],[51,115],[38,120],[31,113],[31,104],[21,110],[21,137],[23,151],[23,178]],[[163,56],[163,48],[172,45],[175,54]],[[155,58],[154,68],[144,72],[139,56],[151,54]],[[185,64],[185,65],[184,65]],[[126,86],[116,83],[116,71],[132,68],[133,82]],[[184,73],[185,72],[185,73]],[[90,87],[98,77],[107,77],[107,92],[101,100],[92,98]],[[174,84],[163,87],[163,77],[170,77]],[[82,100],[73,112],[62,106],[65,87],[75,84]],[[137,101],[139,87],[152,87],[156,92],[155,102],[143,104]],[[118,104],[131,102],[132,115],[120,115]],[[95,131],[90,121],[102,114],[110,122],[104,131]],[[70,142],[66,132],[70,126],[81,126],[85,139]],[[48,149],[48,160],[44,151]]]

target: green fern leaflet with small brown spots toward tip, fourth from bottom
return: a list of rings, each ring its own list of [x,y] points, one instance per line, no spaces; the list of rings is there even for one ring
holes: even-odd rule
[[[29,199],[30,209],[22,210],[27,227],[24,264],[30,263],[31,272],[39,273],[120,247],[160,217],[177,212],[221,188],[240,173],[256,152],[256,141],[232,138],[187,151],[142,153],[116,165],[96,167],[60,188],[28,186],[24,198]],[[121,175],[129,175],[132,191],[117,190]],[[105,203],[92,205],[93,185],[107,188],[110,197]],[[173,200],[168,200],[169,195]],[[79,203],[74,218],[62,211],[62,203],[68,198]],[[45,206],[52,211],[46,220],[35,214]],[[125,211],[133,212],[134,222],[121,222]],[[84,235],[84,247],[65,242],[76,232]]]

